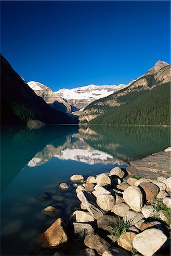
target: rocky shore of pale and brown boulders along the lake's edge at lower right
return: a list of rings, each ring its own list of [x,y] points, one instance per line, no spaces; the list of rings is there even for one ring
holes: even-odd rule
[[[86,180],[82,175],[70,177],[80,207],[68,221],[57,218],[37,243],[55,249],[54,256],[66,255],[62,246],[69,241],[82,245],[77,255],[170,255],[170,150]],[[59,184],[60,189],[69,187]],[[44,212],[53,215],[55,210],[49,205]]]

